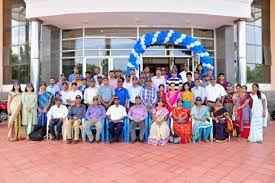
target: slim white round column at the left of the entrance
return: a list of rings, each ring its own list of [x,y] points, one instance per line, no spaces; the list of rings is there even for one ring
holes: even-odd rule
[[[31,44],[31,64],[30,64],[30,77],[31,82],[35,88],[35,91],[38,91],[39,87],[39,60],[40,60],[40,33],[41,33],[41,22],[39,20],[32,20],[31,24],[31,35],[30,35],[30,44]]]

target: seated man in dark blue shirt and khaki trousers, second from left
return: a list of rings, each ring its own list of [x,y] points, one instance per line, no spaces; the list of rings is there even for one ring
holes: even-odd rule
[[[68,144],[72,143],[72,139],[74,144],[79,142],[80,124],[81,120],[85,117],[85,113],[86,107],[81,104],[81,96],[77,95],[75,97],[75,104],[69,110],[68,120],[64,124],[65,138]]]

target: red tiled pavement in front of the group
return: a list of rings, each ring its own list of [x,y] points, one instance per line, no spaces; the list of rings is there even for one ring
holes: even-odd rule
[[[275,123],[263,144],[9,143],[6,133],[0,124],[0,183],[275,183]]]

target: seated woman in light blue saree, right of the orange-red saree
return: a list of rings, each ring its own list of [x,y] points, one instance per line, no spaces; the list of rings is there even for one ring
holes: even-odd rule
[[[213,124],[210,122],[210,112],[207,106],[202,105],[201,97],[197,97],[191,109],[193,125],[193,142],[213,140]]]

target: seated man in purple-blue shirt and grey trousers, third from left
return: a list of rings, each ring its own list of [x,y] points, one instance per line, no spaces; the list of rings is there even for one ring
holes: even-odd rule
[[[82,140],[86,141],[86,136],[89,139],[89,143],[94,142],[94,140],[98,143],[100,140],[100,134],[102,133],[102,128],[104,124],[104,119],[106,116],[105,108],[99,104],[99,98],[97,96],[93,97],[93,102],[89,106],[86,112],[86,120],[83,124],[83,134]],[[92,132],[92,126],[96,128],[96,136],[94,139],[94,135]]]

